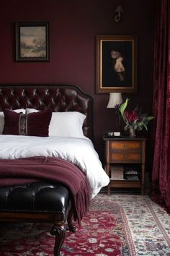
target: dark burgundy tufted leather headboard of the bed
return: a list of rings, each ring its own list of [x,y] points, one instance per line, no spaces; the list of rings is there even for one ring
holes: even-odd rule
[[[93,98],[75,85],[0,85],[0,111],[4,108],[37,108],[79,111],[86,115],[84,135],[93,140]]]

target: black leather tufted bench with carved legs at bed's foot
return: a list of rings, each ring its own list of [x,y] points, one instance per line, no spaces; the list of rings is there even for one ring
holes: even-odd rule
[[[0,188],[0,221],[50,222],[55,235],[54,255],[60,255],[68,229],[75,231],[68,189],[61,184],[36,182]]]

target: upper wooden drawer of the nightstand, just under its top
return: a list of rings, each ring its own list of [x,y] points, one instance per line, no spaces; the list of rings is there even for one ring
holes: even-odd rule
[[[138,152],[140,151],[140,141],[111,141],[110,152]]]

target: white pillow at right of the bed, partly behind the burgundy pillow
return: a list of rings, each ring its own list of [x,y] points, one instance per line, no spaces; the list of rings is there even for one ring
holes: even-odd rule
[[[26,113],[37,112],[37,109],[26,108]],[[53,112],[50,125],[49,136],[58,137],[84,137],[83,124],[86,116],[80,112]]]

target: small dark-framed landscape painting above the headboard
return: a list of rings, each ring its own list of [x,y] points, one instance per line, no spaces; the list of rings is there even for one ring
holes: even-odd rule
[[[16,61],[50,61],[49,22],[15,22]]]

